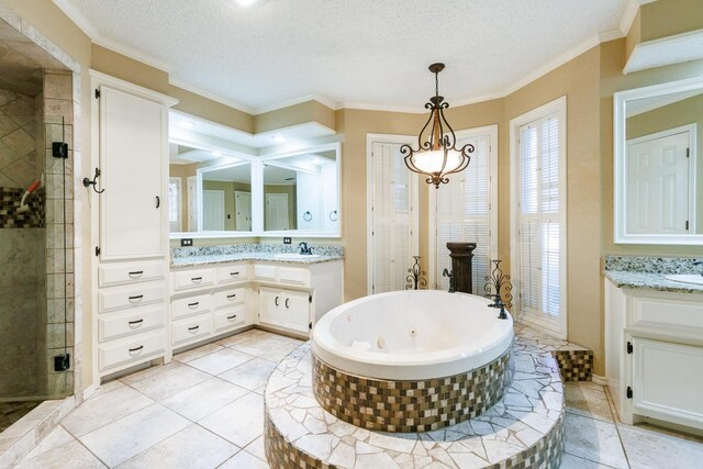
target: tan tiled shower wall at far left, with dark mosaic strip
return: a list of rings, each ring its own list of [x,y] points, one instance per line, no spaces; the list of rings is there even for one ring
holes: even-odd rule
[[[74,147],[72,110],[70,71],[45,70],[35,99],[0,90],[0,400],[74,390],[74,155],[52,156],[53,142]],[[71,368],[54,371],[66,353]]]

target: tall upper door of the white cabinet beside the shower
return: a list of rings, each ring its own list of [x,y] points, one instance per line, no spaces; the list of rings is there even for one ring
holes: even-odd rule
[[[100,87],[100,260],[165,256],[164,104]]]

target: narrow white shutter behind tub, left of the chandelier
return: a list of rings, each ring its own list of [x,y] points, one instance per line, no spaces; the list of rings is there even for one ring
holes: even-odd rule
[[[372,146],[372,293],[403,290],[412,265],[412,191],[400,146]]]

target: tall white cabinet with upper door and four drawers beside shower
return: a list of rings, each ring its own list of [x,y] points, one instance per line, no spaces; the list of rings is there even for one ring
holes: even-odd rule
[[[168,108],[176,100],[91,70],[93,376],[165,358]],[[93,170],[94,170],[93,168]],[[92,175],[91,175],[92,176]]]

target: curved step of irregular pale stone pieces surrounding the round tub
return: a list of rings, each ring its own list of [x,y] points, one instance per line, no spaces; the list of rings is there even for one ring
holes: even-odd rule
[[[325,412],[312,392],[312,353],[303,344],[266,388],[266,456],[272,468],[558,468],[563,388],[555,351],[583,349],[516,327],[514,375],[482,415],[426,433],[370,432]],[[589,368],[590,369],[590,368]]]

